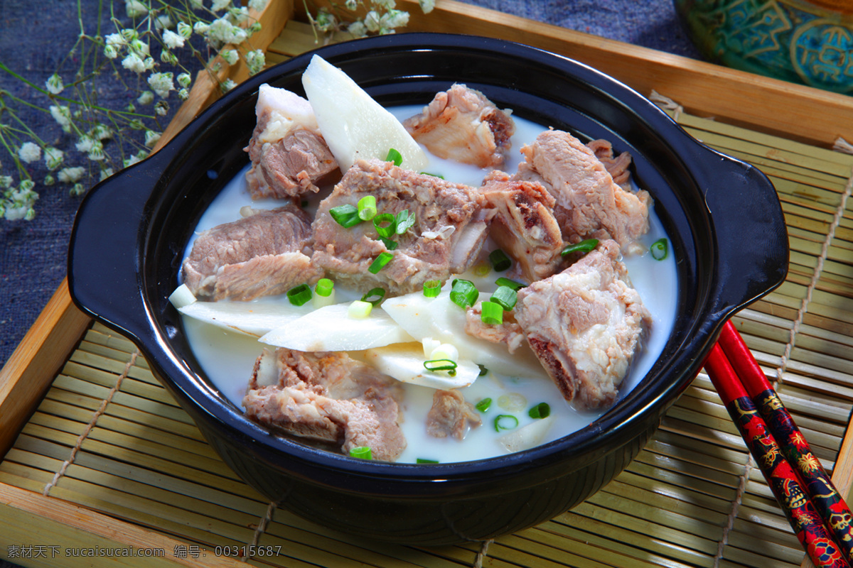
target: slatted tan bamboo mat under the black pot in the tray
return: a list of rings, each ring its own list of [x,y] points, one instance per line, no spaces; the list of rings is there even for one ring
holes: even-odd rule
[[[789,275],[733,321],[832,472],[853,404],[853,156],[657,100],[699,140],[763,169],[779,192]],[[0,462],[0,483],[185,543],[167,557],[209,560],[218,546],[257,544],[273,553],[245,559],[258,566],[794,568],[804,559],[704,374],[629,468],[587,502],[495,542],[417,548],[272,508],[206,445],[131,342],[94,324]]]

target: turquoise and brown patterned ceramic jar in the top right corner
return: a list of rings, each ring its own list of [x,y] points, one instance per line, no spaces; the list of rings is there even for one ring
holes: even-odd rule
[[[853,93],[850,0],[674,0],[708,60]]]

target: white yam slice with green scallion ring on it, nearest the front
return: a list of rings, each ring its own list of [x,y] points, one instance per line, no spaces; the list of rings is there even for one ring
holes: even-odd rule
[[[479,376],[479,367],[471,361],[456,361],[456,375],[450,376],[446,371],[427,370],[424,360],[420,343],[398,343],[364,352],[364,362],[376,370],[399,382],[410,382],[421,387],[467,387]]]

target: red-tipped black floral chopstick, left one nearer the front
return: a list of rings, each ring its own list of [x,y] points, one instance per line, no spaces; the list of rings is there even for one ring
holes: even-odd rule
[[[817,568],[850,568],[718,343],[705,359],[705,370],[806,554]]]

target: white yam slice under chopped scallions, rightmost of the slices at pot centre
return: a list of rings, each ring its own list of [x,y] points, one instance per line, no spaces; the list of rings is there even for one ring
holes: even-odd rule
[[[422,292],[389,298],[382,302],[382,309],[415,340],[432,338],[454,345],[460,359],[482,364],[502,375],[548,377],[528,347],[519,347],[515,353],[509,353],[504,345],[468,336],[465,310],[450,301],[449,286],[435,298],[427,298]]]

